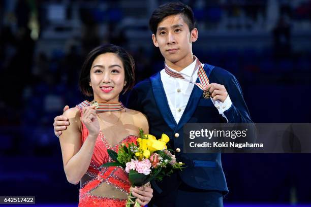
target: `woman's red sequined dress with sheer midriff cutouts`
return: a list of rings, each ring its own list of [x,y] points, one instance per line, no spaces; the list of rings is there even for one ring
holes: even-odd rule
[[[77,108],[80,110],[82,115],[82,108],[78,105]],[[82,144],[85,142],[88,130],[86,126],[82,123]],[[119,207],[125,206],[127,199],[119,199],[112,197],[105,197],[92,194],[96,188],[100,185],[108,184],[112,186],[117,191],[122,191],[129,195],[131,184],[128,180],[128,174],[120,166],[112,166],[112,167],[103,167],[100,166],[106,162],[113,162],[113,160],[109,157],[107,153],[107,149],[111,149],[113,151],[118,150],[118,146],[121,143],[125,142],[134,142],[136,143],[137,136],[129,135],[125,137],[120,143],[115,146],[110,146],[105,135],[100,131],[96,145],[94,147],[94,152],[91,158],[90,165],[87,169],[86,174],[91,177],[89,181],[83,184],[80,188],[79,193],[79,206],[111,206],[111,207]]]

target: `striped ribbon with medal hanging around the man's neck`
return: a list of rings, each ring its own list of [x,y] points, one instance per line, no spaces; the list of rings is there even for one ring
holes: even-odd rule
[[[194,56],[195,57],[195,56]],[[209,84],[209,80],[207,78],[207,75],[202,67],[201,62],[199,61],[199,59],[197,58],[197,62],[196,62],[196,66],[195,68],[197,69],[199,67],[198,70],[198,77],[199,77],[199,81],[200,83],[194,83],[191,80],[185,79],[180,73],[174,72],[172,71],[167,65],[166,63],[164,64],[164,68],[165,68],[165,73],[167,73],[169,76],[172,76],[174,78],[179,78],[179,79],[184,79],[185,81],[188,81],[189,83],[192,83],[196,86],[198,86],[201,90],[203,90],[204,86]],[[205,90],[203,91],[203,97],[204,98],[210,98],[210,92],[209,90]]]

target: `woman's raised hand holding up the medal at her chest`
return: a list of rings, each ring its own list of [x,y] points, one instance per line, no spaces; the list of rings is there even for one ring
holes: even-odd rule
[[[86,126],[89,135],[96,137],[99,134],[100,125],[97,118],[95,106],[89,106],[82,109],[83,115],[81,117],[82,123]]]

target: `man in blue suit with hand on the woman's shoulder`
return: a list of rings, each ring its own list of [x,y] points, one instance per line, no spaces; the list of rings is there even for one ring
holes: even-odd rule
[[[159,47],[165,68],[132,90],[128,108],[144,113],[149,133],[166,133],[182,171],[153,183],[153,206],[223,206],[228,192],[221,154],[183,153],[183,125],[200,122],[252,122],[236,78],[220,67],[202,64],[192,54],[198,29],[192,9],[167,3],[149,21],[152,41]],[[196,84],[194,84],[196,83]],[[65,117],[55,118],[55,134],[65,128]],[[62,127],[62,128],[61,128]],[[151,204],[148,204],[151,205]]]

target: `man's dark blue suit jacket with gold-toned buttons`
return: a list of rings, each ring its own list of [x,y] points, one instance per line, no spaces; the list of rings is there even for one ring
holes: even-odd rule
[[[224,85],[230,95],[232,106],[224,112],[229,122],[252,122],[236,78],[220,67],[204,64],[203,68],[210,83]],[[158,184],[164,194],[176,190],[180,182],[197,189],[217,190],[224,194],[228,192],[220,153],[183,153],[185,123],[227,122],[212,101],[202,95],[203,91],[195,86],[178,124],[170,111],[160,73],[138,83],[128,98],[128,108],[147,116],[150,134],[160,137],[162,133],[166,133],[170,137],[170,147],[181,150],[176,153],[177,160],[185,163],[187,167],[179,172],[179,176],[173,175]],[[174,137],[176,132],[179,133],[178,138]]]

